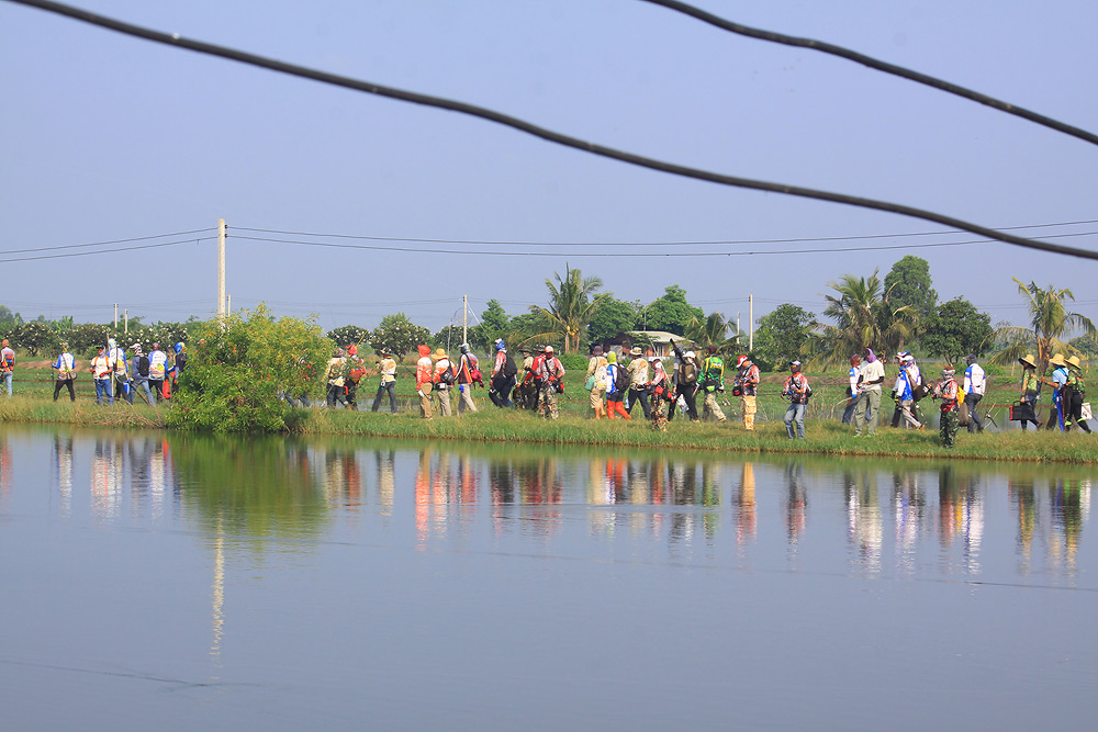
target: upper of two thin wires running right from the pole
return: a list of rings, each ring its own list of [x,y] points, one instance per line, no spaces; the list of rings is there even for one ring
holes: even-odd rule
[[[1098,219],[1060,222],[1052,224],[1030,224],[1027,226],[999,226],[1000,232],[1017,230],[1023,228],[1049,228],[1052,226],[1074,226],[1078,224],[1098,224]],[[855,239],[899,239],[912,236],[944,236],[948,234],[964,234],[963,230],[953,229],[945,232],[909,232],[906,234],[864,234],[859,236],[813,236],[797,237],[792,239],[728,239],[713,241],[505,241],[505,240],[483,240],[483,239],[424,239],[406,236],[366,236],[356,234],[318,234],[316,232],[288,232],[277,228],[250,228],[247,226],[234,226],[234,232],[254,232],[257,234],[287,234],[290,236],[313,236],[330,239],[360,239],[365,241],[418,241],[422,244],[472,244],[484,246],[522,246],[522,247],[685,247],[685,246],[713,246],[713,245],[739,245],[739,244],[794,244],[796,241],[853,241]],[[1098,234],[1098,232],[1080,232],[1078,234],[1063,234],[1061,236],[1086,236]],[[1055,237],[1047,237],[1055,238]]]

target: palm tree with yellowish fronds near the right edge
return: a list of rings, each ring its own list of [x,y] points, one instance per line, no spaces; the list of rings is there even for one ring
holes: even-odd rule
[[[1026,284],[1017,277],[1011,279],[1018,283],[1018,294],[1026,299],[1030,327],[1005,326],[996,330],[996,336],[1007,345],[991,361],[1012,363],[1028,352],[1035,352],[1039,373],[1044,373],[1054,353],[1077,352],[1075,347],[1063,340],[1066,336],[1075,330],[1093,335],[1095,324],[1090,318],[1069,313],[1064,307],[1065,299],[1075,300],[1071,290],[1057,290],[1052,285],[1042,290],[1035,282]]]

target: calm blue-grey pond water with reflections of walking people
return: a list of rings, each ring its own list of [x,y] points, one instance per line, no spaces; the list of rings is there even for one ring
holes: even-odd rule
[[[1089,728],[1093,472],[0,426],[4,728]]]

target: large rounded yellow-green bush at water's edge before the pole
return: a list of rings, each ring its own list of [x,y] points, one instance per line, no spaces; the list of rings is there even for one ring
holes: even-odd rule
[[[281,392],[311,374],[318,387],[332,341],[313,318],[274,319],[260,304],[199,328],[172,398],[171,427],[211,432],[285,432],[298,423]]]

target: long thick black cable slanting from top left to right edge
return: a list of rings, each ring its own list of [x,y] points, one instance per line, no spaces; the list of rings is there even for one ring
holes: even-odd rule
[[[318,71],[316,69],[311,69],[303,66],[295,66],[293,64],[287,64],[271,58],[265,58],[262,56],[248,54],[242,50],[237,50],[235,48],[227,48],[211,43],[203,43],[201,41],[191,41],[189,38],[183,38],[178,33],[168,34],[168,33],[161,33],[159,31],[153,31],[137,25],[132,25],[130,23],[124,23],[122,21],[117,21],[103,15],[98,15],[96,13],[90,13],[88,11],[80,10],[78,8],[72,8],[71,5],[66,5],[58,2],[49,2],[48,0],[7,0],[7,1],[15,2],[23,5],[29,5],[32,8],[38,8],[53,13],[57,13],[59,15],[66,15],[68,18],[74,18],[85,23],[99,25],[101,27],[116,31],[125,35],[132,35],[138,38],[153,41],[155,43],[163,43],[169,46],[176,46],[178,48],[186,48],[188,50],[193,50],[200,54],[208,54],[210,56],[227,58],[229,60],[239,61],[242,64],[249,64],[251,66],[270,69],[272,71],[278,71],[280,74],[288,74],[290,76],[296,76],[303,79],[311,79],[313,81],[320,81],[322,83],[328,83],[332,86],[343,87],[346,89],[354,89],[356,91],[362,91],[370,94],[378,94],[380,97],[388,97],[390,99],[411,102],[413,104],[423,104],[424,106],[435,106],[442,110],[449,110],[451,112],[468,114],[470,116],[488,120],[489,122],[495,122],[497,124],[507,127],[513,127],[520,132],[525,132],[529,135],[534,135],[535,137],[540,137],[541,139],[546,139],[548,142],[556,143],[558,145],[572,147],[578,150],[592,153],[594,155],[600,155],[614,160],[619,160],[621,162],[627,162],[629,165],[638,166],[641,168],[648,168],[650,170],[658,170],[674,176],[681,176],[683,178],[693,178],[695,180],[703,180],[712,183],[719,183],[721,185],[730,185],[733,188],[746,188],[757,191],[768,191],[771,193],[782,193],[784,195],[794,195],[803,199],[829,201],[831,203],[842,203],[845,205],[858,206],[861,209],[885,211],[887,213],[900,214],[903,216],[909,216],[911,218],[921,218],[923,221],[929,221],[934,224],[941,224],[942,226],[946,226],[950,228],[964,229],[966,232],[976,234],[978,236],[985,236],[989,239],[997,239],[999,241],[1011,244],[1018,247],[1024,247],[1027,249],[1037,249],[1039,251],[1051,251],[1054,254],[1069,255],[1072,257],[1079,257],[1083,259],[1098,260],[1098,251],[1077,249],[1075,247],[1065,247],[1062,245],[1050,244],[1047,241],[1041,241],[1038,239],[1027,239],[1024,237],[1015,236],[1012,234],[1004,234],[1001,232],[996,232],[995,229],[987,228],[986,226],[972,224],[970,222],[960,218],[954,218],[953,216],[946,216],[943,214],[934,213],[932,211],[917,209],[915,206],[889,203],[887,201],[877,201],[875,199],[865,199],[856,195],[847,195],[844,193],[834,193],[832,191],[821,191],[818,189],[804,188],[800,185],[788,185],[785,183],[754,180],[751,178],[726,176],[722,173],[712,172],[708,170],[701,170],[697,168],[691,168],[688,166],[681,166],[673,162],[666,162],[663,160],[647,158],[640,155],[634,155],[631,153],[626,153],[624,150],[617,150],[610,147],[605,147],[603,145],[597,145],[595,143],[582,140],[576,137],[571,137],[569,135],[563,135],[561,133],[553,132],[545,127],[540,127],[524,120],[519,120],[517,117],[513,117],[503,114],[501,112],[495,112],[493,110],[483,106],[477,106],[474,104],[468,104],[466,102],[459,102],[450,99],[444,99],[440,97],[432,97],[429,94],[422,94],[417,92],[406,91],[403,89],[395,89],[393,87],[384,87],[369,81],[361,81],[358,79],[352,79],[336,74],[328,74],[326,71]]]

